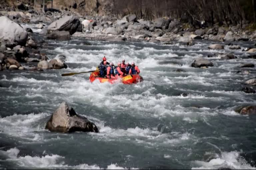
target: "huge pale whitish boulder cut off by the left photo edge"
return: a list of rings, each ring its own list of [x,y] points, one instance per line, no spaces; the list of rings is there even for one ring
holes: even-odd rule
[[[0,23],[4,23],[0,25],[0,39],[5,41],[6,47],[26,44],[28,33],[19,24],[5,16],[0,17]]]

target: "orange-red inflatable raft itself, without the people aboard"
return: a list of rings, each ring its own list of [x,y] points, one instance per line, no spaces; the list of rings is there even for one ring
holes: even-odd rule
[[[122,78],[108,79],[104,77],[99,77],[100,72],[92,72],[89,80],[94,82],[95,80],[99,80],[101,83],[109,82],[111,84],[122,82],[124,84],[136,84],[138,82],[142,82],[143,78],[139,74],[126,75]]]

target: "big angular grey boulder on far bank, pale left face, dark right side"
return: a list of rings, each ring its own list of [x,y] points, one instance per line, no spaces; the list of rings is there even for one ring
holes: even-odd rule
[[[68,31],[70,35],[74,34],[80,26],[80,21],[74,16],[65,16],[51,23],[47,31]]]

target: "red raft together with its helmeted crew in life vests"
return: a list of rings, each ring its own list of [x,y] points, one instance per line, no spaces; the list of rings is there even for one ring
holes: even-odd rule
[[[122,63],[118,62],[115,66],[112,62],[107,62],[107,58],[104,56],[98,70],[92,72],[89,79],[91,82],[99,80],[101,83],[109,82],[112,84],[121,80],[124,84],[133,84],[143,81],[139,74],[139,67],[134,62],[125,64],[125,60],[122,60]]]

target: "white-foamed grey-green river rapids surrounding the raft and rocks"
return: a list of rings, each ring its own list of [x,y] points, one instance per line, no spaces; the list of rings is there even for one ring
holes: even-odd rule
[[[214,67],[200,69],[190,67],[196,57],[231,50],[210,50],[213,42],[207,41],[46,42],[40,51],[49,58],[65,55],[67,69],[0,72],[0,169],[255,169],[256,117],[234,112],[255,104],[255,94],[240,91],[255,69],[238,74],[238,65],[256,64],[241,49],[237,59],[209,58]],[[61,76],[94,70],[104,55],[109,62],[134,61],[144,82],[112,85],[90,83],[89,74]],[[100,133],[45,130],[63,101]]]

